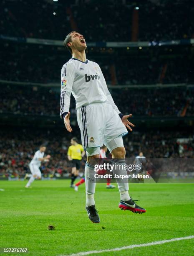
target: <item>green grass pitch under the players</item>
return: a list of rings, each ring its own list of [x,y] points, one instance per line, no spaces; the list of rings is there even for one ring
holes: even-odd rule
[[[69,183],[35,181],[25,189],[24,181],[0,181],[0,248],[54,256],[194,235],[194,184],[130,184],[130,195],[147,210],[142,215],[121,211],[118,189],[97,184],[101,223],[94,224],[85,210],[85,184],[75,192]],[[93,255],[188,256],[194,255],[194,239]]]

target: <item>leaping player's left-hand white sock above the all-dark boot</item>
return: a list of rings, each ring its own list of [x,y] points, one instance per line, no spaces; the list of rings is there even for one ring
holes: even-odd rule
[[[85,166],[85,182],[86,182],[86,206],[95,205],[94,193],[96,187],[96,179],[94,178],[94,166],[86,162]]]

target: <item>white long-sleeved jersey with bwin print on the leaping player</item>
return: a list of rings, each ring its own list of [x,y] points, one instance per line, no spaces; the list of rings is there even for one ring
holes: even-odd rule
[[[60,117],[69,111],[71,93],[76,110],[91,103],[109,103],[120,113],[108,91],[101,68],[96,62],[71,58],[61,69]]]

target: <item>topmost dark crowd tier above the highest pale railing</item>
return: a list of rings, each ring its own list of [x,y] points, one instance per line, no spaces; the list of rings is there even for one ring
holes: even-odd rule
[[[192,1],[1,1],[0,33],[63,40],[78,29],[88,41],[131,41],[136,12],[137,40],[192,38]],[[186,18],[185,18],[186,14]],[[138,16],[138,17],[137,17]],[[137,25],[138,24],[138,25]],[[151,28],[151,29],[150,29]]]

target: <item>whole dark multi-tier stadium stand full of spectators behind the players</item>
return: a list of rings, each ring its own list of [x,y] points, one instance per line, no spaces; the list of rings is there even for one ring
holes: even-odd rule
[[[158,44],[194,38],[192,2],[140,0],[137,5],[123,0],[119,11],[113,0],[98,6],[87,0],[65,2],[0,3],[0,174],[18,177],[29,172],[28,164],[44,142],[52,161],[42,165],[42,172],[52,177],[68,175],[71,164],[66,153],[72,135],[59,118],[59,102],[60,69],[71,56],[55,41],[30,44],[26,38],[63,41],[72,30],[85,36],[87,58],[100,65],[119,110],[139,118],[133,133],[124,138],[126,157],[143,151],[146,157],[193,158],[194,44]],[[111,41],[149,41],[151,46],[104,47]],[[90,46],[92,42],[96,47]],[[73,97],[70,111],[76,125]],[[54,118],[52,124],[49,118]],[[168,123],[166,128],[162,122]],[[80,138],[77,126],[73,136]]]

